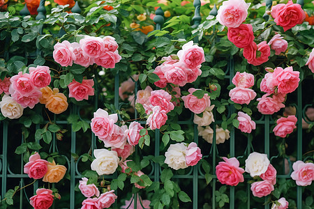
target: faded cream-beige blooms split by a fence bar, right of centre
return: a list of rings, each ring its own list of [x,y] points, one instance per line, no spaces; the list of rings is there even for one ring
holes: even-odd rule
[[[207,141],[209,144],[213,144],[214,139],[214,130],[207,125],[207,127],[197,126],[198,135],[202,136],[202,138]],[[225,140],[230,138],[230,131],[223,130],[222,127],[218,127],[216,125],[216,144],[223,144]]]

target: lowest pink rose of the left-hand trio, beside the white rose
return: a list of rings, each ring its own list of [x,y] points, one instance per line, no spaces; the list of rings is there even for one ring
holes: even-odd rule
[[[41,91],[39,91],[36,88],[34,88],[33,91],[29,92],[28,95],[22,95],[20,92],[14,91],[13,88],[10,88],[9,91],[11,93],[13,100],[21,104],[23,108],[29,107],[30,109],[33,109],[35,104],[39,102],[39,98],[42,95]]]

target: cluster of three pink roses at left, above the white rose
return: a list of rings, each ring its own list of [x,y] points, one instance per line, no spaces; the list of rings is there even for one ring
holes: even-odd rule
[[[50,82],[51,77],[49,68],[47,66],[38,65],[36,68],[30,67],[29,73],[23,74],[23,72],[19,72],[17,75],[11,77],[10,81],[8,81],[8,79],[4,79],[0,86],[1,91],[4,91],[6,94],[10,94],[11,98],[20,104],[22,108],[29,107],[33,109],[35,104],[39,102],[42,95],[40,88],[44,88],[49,85]],[[10,86],[8,88],[9,84]],[[10,113],[7,113],[6,115],[10,116]],[[11,116],[11,118],[17,117]]]

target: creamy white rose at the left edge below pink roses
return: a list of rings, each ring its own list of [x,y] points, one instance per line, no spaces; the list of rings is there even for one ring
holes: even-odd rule
[[[24,110],[21,104],[15,102],[9,95],[3,95],[0,108],[3,116],[10,119],[20,118]]]

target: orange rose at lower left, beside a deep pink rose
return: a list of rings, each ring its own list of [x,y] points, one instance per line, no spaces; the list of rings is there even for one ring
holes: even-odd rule
[[[43,177],[43,181],[49,183],[58,183],[63,176],[66,174],[66,167],[63,165],[56,165],[56,162],[49,162],[48,170],[45,176]]]

